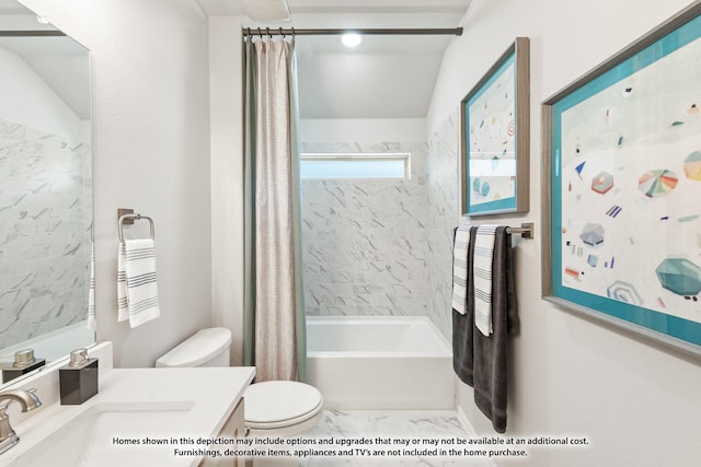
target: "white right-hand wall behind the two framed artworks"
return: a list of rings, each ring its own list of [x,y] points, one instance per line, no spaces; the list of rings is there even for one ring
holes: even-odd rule
[[[516,36],[531,38],[530,212],[499,222],[536,222],[517,247],[521,318],[509,372],[507,434],[584,435],[578,451],[530,450],[527,465],[691,466],[701,458],[698,361],[555,308],[540,297],[540,103],[685,8],[687,0],[474,0],[464,34],[444,57],[428,116],[455,112]],[[493,221],[493,220],[492,220]],[[460,384],[460,407],[480,434],[494,433]],[[501,465],[509,465],[501,459]]]

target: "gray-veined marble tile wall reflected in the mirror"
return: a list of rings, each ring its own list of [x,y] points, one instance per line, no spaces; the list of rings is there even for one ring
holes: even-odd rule
[[[89,148],[0,119],[0,348],[85,318]]]

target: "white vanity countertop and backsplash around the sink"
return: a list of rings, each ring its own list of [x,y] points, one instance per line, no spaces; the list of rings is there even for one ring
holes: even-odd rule
[[[186,411],[169,421],[163,432],[141,432],[135,425],[130,432],[122,433],[124,437],[181,437],[203,436],[216,437],[237,408],[244,389],[253,380],[253,367],[208,367],[208,369],[113,369],[112,346],[102,343],[90,352],[100,358],[100,392],[80,406],[61,406],[58,404],[58,366],[66,361],[57,362],[50,370],[42,372],[22,382],[18,387],[36,387],[36,395],[43,406],[32,412],[19,413],[19,408],[10,406],[10,420],[21,437],[20,443],[0,456],[0,466],[20,466],[31,460],[32,448],[60,430],[81,415],[90,410],[100,411],[102,407],[119,406],[140,410],[141,406],[187,402]],[[120,456],[135,452],[124,446],[112,446],[112,440],[95,440],[102,444],[102,451],[110,454],[113,464],[125,465]],[[191,446],[195,448],[196,446]],[[200,447],[203,447],[200,445]],[[199,458],[192,456],[173,457],[173,446],[148,448],[140,446],[137,452],[140,459],[151,458],[153,465],[197,465]],[[165,456],[165,457],[164,457]]]

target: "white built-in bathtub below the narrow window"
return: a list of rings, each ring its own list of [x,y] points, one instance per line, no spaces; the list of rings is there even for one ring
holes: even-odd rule
[[[307,376],[327,409],[453,409],[451,355],[424,316],[307,317]]]

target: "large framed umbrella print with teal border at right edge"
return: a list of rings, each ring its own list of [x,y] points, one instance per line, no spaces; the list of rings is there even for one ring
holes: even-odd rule
[[[543,296],[701,357],[701,2],[542,109]]]

